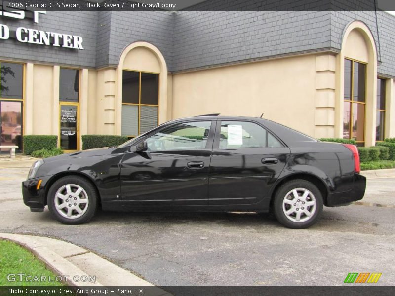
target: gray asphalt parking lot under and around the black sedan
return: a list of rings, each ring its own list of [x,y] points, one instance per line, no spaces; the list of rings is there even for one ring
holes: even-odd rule
[[[67,226],[24,206],[28,170],[0,167],[0,232],[75,243],[156,285],[342,285],[349,272],[381,272],[377,284],[394,283],[394,207],[324,208],[306,230],[254,213],[99,211]],[[370,179],[364,200],[394,204],[394,192],[395,178]]]

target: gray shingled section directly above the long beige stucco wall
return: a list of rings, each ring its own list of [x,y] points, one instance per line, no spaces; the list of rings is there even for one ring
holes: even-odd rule
[[[325,48],[330,37],[326,11],[181,11],[172,70]]]

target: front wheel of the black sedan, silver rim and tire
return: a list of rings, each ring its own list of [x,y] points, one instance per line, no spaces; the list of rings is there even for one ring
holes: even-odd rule
[[[67,185],[70,186],[68,187]],[[77,190],[79,190],[79,188],[82,188],[82,191],[77,195]],[[58,192],[58,190],[61,191]],[[68,190],[71,190],[70,194],[72,195],[66,196],[62,194],[69,192]],[[63,198],[56,197],[57,192],[60,193],[59,196],[63,195],[68,199],[64,200]],[[98,204],[97,198],[96,189],[88,180],[79,176],[65,176],[55,181],[49,188],[47,205],[50,213],[56,220],[63,224],[77,225],[88,222],[95,215]],[[57,210],[56,203],[58,205],[62,203],[59,205],[59,207],[63,206],[62,209]],[[71,211],[70,218],[67,217],[69,211]],[[79,211],[81,213],[79,213]]]

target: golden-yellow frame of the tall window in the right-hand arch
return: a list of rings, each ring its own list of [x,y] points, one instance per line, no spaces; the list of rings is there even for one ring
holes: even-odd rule
[[[363,146],[365,145],[366,142],[366,99],[367,99],[367,63],[356,60],[356,59],[352,59],[352,58],[344,58],[344,60],[348,60],[351,61],[351,85],[350,85],[350,100],[346,100],[345,99],[345,95],[344,95],[344,89],[345,89],[345,85],[343,85],[343,106],[344,103],[347,102],[350,104],[350,120],[349,120],[349,137],[348,138],[344,138],[344,128],[343,128],[343,139],[353,139],[353,104],[362,104],[365,107],[363,108],[363,141],[356,141],[356,144],[360,145],[363,144]],[[360,102],[360,101],[354,101],[354,64],[355,63],[359,63],[359,64],[363,64],[365,65],[365,98],[364,98],[364,102]],[[343,72],[345,73],[345,67],[343,67]],[[343,79],[343,83],[344,83],[344,79]],[[359,81],[358,81],[359,83]],[[344,107],[343,107],[344,108]],[[344,111],[343,111],[343,116],[344,116]],[[344,117],[343,117],[343,123],[342,126],[344,127]]]

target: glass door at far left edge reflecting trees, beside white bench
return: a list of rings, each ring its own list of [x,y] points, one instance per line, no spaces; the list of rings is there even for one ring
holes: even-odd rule
[[[0,145],[16,145],[16,152],[22,152],[22,102],[0,101]],[[0,149],[9,153],[9,149]]]

